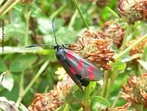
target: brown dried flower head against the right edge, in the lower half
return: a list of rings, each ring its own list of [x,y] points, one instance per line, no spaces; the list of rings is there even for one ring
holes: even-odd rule
[[[147,108],[147,73],[140,77],[130,76],[127,85],[123,85],[121,97],[134,104],[142,104]]]

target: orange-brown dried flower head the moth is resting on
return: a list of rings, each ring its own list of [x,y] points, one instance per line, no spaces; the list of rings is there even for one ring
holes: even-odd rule
[[[109,61],[114,61],[114,51],[110,49],[110,41],[101,38],[97,32],[86,30],[76,44],[69,47],[75,49],[83,58],[106,70],[111,70]]]

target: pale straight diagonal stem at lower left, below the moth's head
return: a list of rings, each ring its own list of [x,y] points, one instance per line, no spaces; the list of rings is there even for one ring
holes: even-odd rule
[[[32,81],[29,83],[29,85],[24,89],[23,92],[21,92],[21,96],[19,96],[16,104],[19,105],[19,103],[22,101],[22,98],[26,95],[26,93],[29,91],[29,89],[32,87],[32,85],[35,83],[35,81],[38,79],[38,77],[41,75],[41,73],[45,70],[45,68],[47,67],[49,63],[49,60],[47,60],[42,67],[39,69],[39,71],[37,72],[37,74],[35,75],[35,77],[32,79]]]

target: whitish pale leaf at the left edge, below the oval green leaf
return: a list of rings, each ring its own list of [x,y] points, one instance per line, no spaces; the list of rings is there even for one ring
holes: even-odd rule
[[[12,74],[9,73],[9,71],[1,74],[0,82],[1,82],[1,85],[4,88],[8,89],[9,91],[11,91],[14,86],[14,79],[12,77]]]

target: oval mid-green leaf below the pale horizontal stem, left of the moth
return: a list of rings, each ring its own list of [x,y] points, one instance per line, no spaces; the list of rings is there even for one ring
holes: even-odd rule
[[[36,55],[27,54],[17,57],[10,65],[11,72],[22,72],[30,68],[37,60]]]

